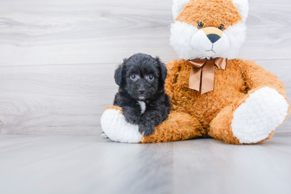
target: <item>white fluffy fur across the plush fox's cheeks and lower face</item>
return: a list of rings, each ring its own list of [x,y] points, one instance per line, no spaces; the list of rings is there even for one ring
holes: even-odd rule
[[[196,33],[198,34],[196,35]],[[207,43],[207,41],[198,40],[199,37],[200,38],[203,37],[203,34],[201,33],[202,34],[201,35],[200,33],[201,33],[200,30],[196,26],[188,24],[186,22],[175,21],[175,23],[171,25],[170,44],[173,46],[173,48],[175,49],[180,58],[183,58],[185,60],[195,58],[210,59],[211,57],[235,59],[237,58],[239,48],[241,47],[246,38],[246,25],[243,21],[239,21],[237,24],[233,26],[228,26],[227,30],[223,31],[222,37],[225,36],[225,38],[223,39],[221,38],[221,40],[215,42],[216,48],[214,48],[213,44],[214,50],[216,49],[216,51],[214,51],[216,52],[216,55],[214,56],[210,56],[213,55],[214,53],[208,54],[208,52],[205,53],[202,50],[202,48],[204,47],[207,48],[210,47],[209,45],[212,43],[210,41]],[[195,38],[196,36],[197,38]],[[203,39],[205,39],[205,37]],[[225,48],[227,47],[226,39],[228,39],[229,41],[229,47],[228,49],[225,50]],[[205,44],[205,42],[207,44]],[[209,50],[211,50],[211,48]]]

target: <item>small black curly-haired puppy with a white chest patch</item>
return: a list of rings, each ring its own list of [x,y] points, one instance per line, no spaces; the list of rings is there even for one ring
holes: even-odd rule
[[[142,53],[124,59],[114,72],[119,89],[113,105],[121,107],[125,120],[137,124],[145,136],[168,118],[171,104],[165,93],[166,77],[167,68],[159,57]]]

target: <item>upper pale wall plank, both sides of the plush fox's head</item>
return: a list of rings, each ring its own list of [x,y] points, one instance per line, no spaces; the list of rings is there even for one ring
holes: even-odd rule
[[[245,59],[291,59],[289,0],[249,0]],[[172,0],[0,1],[0,65],[117,63],[143,52],[177,58]]]

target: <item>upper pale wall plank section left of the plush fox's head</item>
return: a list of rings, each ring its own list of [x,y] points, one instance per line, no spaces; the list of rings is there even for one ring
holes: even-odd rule
[[[0,65],[120,62],[137,52],[176,57],[172,1],[1,1]]]

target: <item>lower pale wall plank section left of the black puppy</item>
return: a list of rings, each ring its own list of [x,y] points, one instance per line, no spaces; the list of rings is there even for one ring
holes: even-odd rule
[[[0,133],[99,134],[116,65],[0,67]]]

